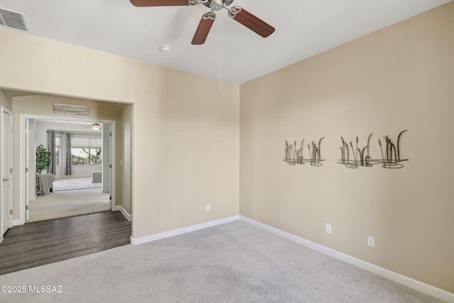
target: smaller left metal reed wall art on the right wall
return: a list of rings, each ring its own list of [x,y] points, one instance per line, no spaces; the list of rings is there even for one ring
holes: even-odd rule
[[[297,141],[294,141],[294,144],[292,145],[289,144],[286,140],[284,148],[284,161],[289,165],[304,165],[306,163],[309,163],[312,166],[322,166],[323,164],[321,163],[321,161],[324,160],[321,158],[321,141],[323,140],[323,138],[319,140],[319,143],[312,141],[311,143],[307,144],[306,155],[309,155],[307,158],[304,158],[304,140],[306,139],[303,139],[301,141],[301,145],[298,146]]]

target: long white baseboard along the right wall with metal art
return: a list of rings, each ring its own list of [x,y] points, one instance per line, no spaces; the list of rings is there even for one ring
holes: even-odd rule
[[[428,285],[426,283],[420,282],[418,280],[411,279],[410,277],[406,277],[404,275],[401,275],[397,272],[392,272],[391,270],[387,270],[385,268],[380,268],[380,266],[374,265],[372,263],[365,262],[363,260],[360,260],[358,258],[354,258],[350,255],[346,255],[345,253],[341,253],[340,251],[333,250],[331,248],[328,248],[326,246],[321,246],[320,244],[317,244],[315,242],[306,240],[304,238],[300,238],[299,236],[295,236],[292,233],[287,233],[286,231],[282,231],[280,229],[274,228],[272,226],[262,224],[258,221],[255,221],[253,219],[246,218],[245,216],[240,216],[241,221],[245,221],[249,224],[252,224],[254,226],[258,226],[260,228],[265,229],[266,231],[269,231],[270,233],[274,233],[277,236],[281,236],[282,238],[286,238],[289,241],[293,241],[296,243],[301,244],[302,246],[306,246],[308,248],[311,248],[313,250],[318,251],[319,253],[323,253],[325,255],[329,255],[330,257],[336,258],[338,260],[341,260],[345,263],[348,263],[350,265],[353,265],[357,268],[362,268],[363,270],[367,270],[369,272],[375,273],[375,275],[380,275],[382,277],[385,277],[389,280],[392,280],[394,282],[397,282],[399,284],[405,285],[406,287],[410,287],[414,290],[418,290],[419,292],[423,292],[424,294],[429,294],[432,297],[436,297],[438,299],[441,299],[445,302],[453,302],[454,303],[454,294],[450,292],[446,292],[445,290],[441,290],[437,287],[433,287],[431,285]]]

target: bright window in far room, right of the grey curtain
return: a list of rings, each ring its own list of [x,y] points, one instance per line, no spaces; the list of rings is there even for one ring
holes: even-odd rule
[[[101,146],[101,135],[73,135],[71,137],[72,165],[101,164]]]

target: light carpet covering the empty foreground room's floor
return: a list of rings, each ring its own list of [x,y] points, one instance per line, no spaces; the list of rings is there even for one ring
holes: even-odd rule
[[[0,302],[441,303],[243,221],[0,275]],[[31,292],[55,286],[55,292]],[[57,292],[60,290],[60,292]]]

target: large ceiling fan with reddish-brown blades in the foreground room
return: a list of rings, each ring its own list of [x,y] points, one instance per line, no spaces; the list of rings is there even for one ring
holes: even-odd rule
[[[211,26],[216,20],[215,11],[221,11],[221,9],[226,9],[228,11],[228,16],[233,20],[238,21],[243,24],[243,26],[249,28],[251,31],[258,33],[263,38],[271,35],[275,28],[269,24],[262,21],[260,18],[254,16],[252,13],[249,13],[245,9],[240,8],[240,6],[233,6],[233,0],[130,0],[133,6],[143,7],[143,6],[195,6],[197,4],[204,4],[204,6],[211,9],[209,13],[205,13],[201,17],[199,26],[196,29],[194,38],[192,39],[193,45],[201,45],[205,43],[206,37],[210,32]]]

